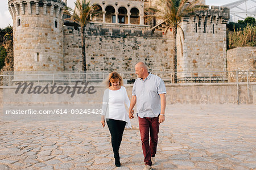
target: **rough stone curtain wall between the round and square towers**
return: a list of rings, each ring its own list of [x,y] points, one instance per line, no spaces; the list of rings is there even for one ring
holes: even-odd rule
[[[137,62],[148,69],[173,71],[172,39],[162,32],[152,33],[145,28],[117,27],[112,24],[86,27],[86,64],[88,71],[134,72]],[[79,30],[64,27],[65,71],[81,71],[81,36]]]

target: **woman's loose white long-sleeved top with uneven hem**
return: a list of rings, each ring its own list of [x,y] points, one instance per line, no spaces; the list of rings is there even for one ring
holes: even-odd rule
[[[103,96],[102,116],[105,116],[107,119],[112,118],[114,120],[126,121],[125,127],[131,128],[131,121],[125,104],[128,108],[130,107],[130,100],[125,87],[121,86],[119,90],[107,88]]]

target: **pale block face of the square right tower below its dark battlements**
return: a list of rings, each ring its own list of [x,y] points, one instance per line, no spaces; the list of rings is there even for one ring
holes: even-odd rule
[[[191,16],[188,22],[183,22],[181,25],[186,31],[184,32],[185,40],[182,42],[184,53],[178,53],[177,56],[178,61],[183,63],[178,71],[194,71],[196,76],[208,76],[208,73],[200,73],[203,71],[226,71],[226,63],[223,62],[226,61],[226,41],[224,41],[226,35],[223,29],[225,24],[221,24],[220,21],[210,23],[207,20],[205,33],[204,24],[201,23],[199,27],[198,16],[195,20]],[[183,74],[183,76],[190,75]]]

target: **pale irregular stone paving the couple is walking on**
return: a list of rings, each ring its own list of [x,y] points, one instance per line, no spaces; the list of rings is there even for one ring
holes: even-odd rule
[[[142,169],[138,118],[121,167],[100,121],[0,121],[0,169]],[[255,169],[256,105],[168,105],[155,169]]]

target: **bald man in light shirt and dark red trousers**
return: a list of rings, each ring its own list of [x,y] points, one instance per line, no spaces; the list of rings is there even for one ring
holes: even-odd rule
[[[164,122],[166,109],[166,86],[159,76],[148,73],[147,66],[143,62],[135,65],[135,74],[139,78],[134,82],[129,118],[134,118],[132,109],[137,104],[139,131],[146,165],[143,170],[146,170],[152,169],[151,166],[155,163],[159,124]]]

